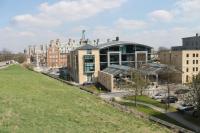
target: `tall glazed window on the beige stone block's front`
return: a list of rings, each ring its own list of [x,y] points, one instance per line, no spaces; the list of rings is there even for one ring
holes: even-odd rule
[[[92,73],[95,71],[94,60],[95,60],[94,55],[84,56],[84,72],[85,73]]]

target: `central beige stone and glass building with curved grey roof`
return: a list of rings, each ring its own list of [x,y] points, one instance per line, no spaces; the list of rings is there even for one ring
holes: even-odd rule
[[[67,67],[75,82],[96,82],[98,71],[111,65],[138,68],[146,64],[150,61],[151,50],[149,46],[119,41],[119,38],[96,46],[86,44],[70,52]]]

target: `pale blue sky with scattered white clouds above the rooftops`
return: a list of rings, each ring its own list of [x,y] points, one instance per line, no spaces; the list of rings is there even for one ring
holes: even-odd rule
[[[158,47],[200,31],[200,0],[0,0],[0,50],[116,36]]]

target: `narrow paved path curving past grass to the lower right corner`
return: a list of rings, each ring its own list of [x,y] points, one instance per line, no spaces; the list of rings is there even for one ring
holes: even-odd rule
[[[131,101],[131,100],[123,100],[123,101],[135,103],[134,101]],[[151,104],[143,103],[143,102],[137,102],[137,104],[141,104],[141,105],[147,106],[149,108],[152,108],[156,111],[159,111],[161,113],[164,113],[168,117],[178,121],[179,123],[183,124],[184,126],[188,127],[189,129],[195,130],[196,132],[200,132],[200,127],[198,125],[195,125],[195,124],[185,120],[183,118],[183,116],[181,114],[177,113],[177,112],[166,112],[165,109],[156,107],[156,106],[151,105]]]

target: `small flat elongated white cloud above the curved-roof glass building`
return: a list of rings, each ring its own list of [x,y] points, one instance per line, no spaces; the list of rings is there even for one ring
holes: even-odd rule
[[[144,29],[147,27],[147,23],[141,20],[128,20],[120,18],[116,22],[116,27],[126,30]]]

